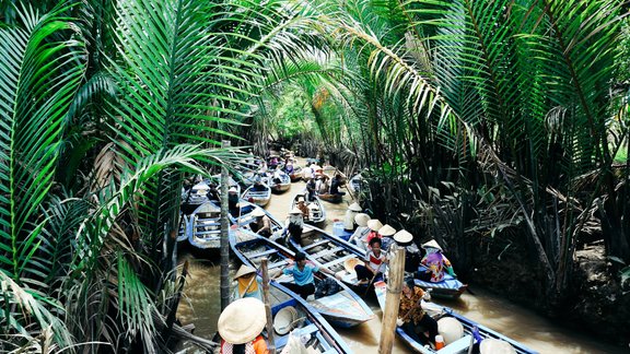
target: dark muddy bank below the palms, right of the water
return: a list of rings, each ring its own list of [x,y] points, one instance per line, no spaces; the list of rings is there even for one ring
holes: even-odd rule
[[[465,248],[467,252],[462,252]],[[545,314],[560,326],[596,335],[628,349],[630,288],[621,288],[618,270],[604,255],[603,244],[575,252],[571,284],[557,299],[546,296],[544,272],[522,240],[479,237],[458,245],[459,278],[470,288],[483,287],[512,302]],[[459,259],[452,259],[456,264]]]

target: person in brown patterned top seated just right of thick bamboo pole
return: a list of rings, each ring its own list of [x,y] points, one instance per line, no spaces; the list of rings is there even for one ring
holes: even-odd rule
[[[429,300],[431,297],[420,286],[416,286],[413,279],[407,279],[402,283],[400,294],[400,305],[398,306],[398,319],[396,324],[405,331],[416,342],[435,344],[438,335],[438,322],[422,309],[422,299]],[[429,333],[429,337],[425,333]]]

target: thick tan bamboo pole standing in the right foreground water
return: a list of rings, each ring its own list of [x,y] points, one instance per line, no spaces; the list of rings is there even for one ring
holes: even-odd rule
[[[389,260],[387,298],[385,299],[381,340],[378,341],[380,354],[392,353],[398,306],[400,305],[400,292],[402,291],[402,278],[405,276],[405,247],[398,247],[394,244],[390,249],[390,253],[394,253],[394,257]]]

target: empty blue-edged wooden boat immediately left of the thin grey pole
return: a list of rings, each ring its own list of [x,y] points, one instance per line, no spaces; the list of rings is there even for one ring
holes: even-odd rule
[[[221,208],[206,202],[192,212],[189,221],[188,243],[199,250],[221,246]]]

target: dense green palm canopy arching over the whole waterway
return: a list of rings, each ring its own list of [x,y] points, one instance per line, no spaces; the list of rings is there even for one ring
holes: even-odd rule
[[[0,7],[2,352],[164,351],[183,179],[222,140],[361,169],[417,237],[517,236],[549,303],[584,238],[630,278],[621,1]]]

